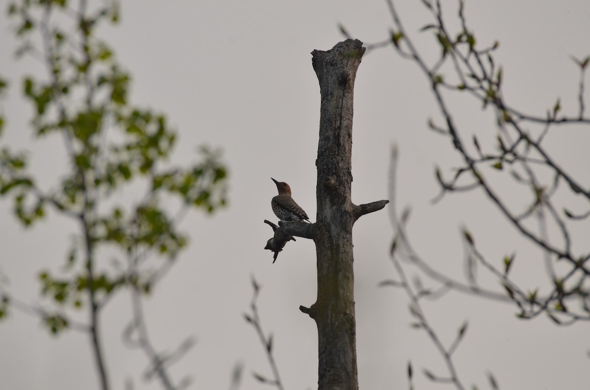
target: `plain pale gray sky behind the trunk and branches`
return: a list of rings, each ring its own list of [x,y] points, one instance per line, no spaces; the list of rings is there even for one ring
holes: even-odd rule
[[[457,5],[445,3],[448,21]],[[399,1],[405,27],[432,59],[439,55],[430,23],[419,1]],[[466,15],[479,44],[500,49],[504,96],[522,111],[544,115],[557,97],[565,113],[576,113],[578,70],[569,58],[590,54],[590,3],[584,0],[468,1]],[[15,62],[11,22],[0,16],[0,72],[11,81],[1,107],[8,116],[1,145],[31,151],[41,184],[50,186],[66,167],[57,137],[34,140],[27,121],[31,107],[21,98],[24,74],[41,70],[34,61]],[[242,318],[251,298],[250,277],[263,286],[258,306],[264,329],[274,334],[274,351],[284,385],[317,386],[317,331],[299,311],[316,298],[313,242],[289,243],[273,265],[263,250],[271,236],[264,219],[274,220],[270,199],[274,177],[287,181],[293,197],[315,220],[319,87],[311,65],[313,49],[327,50],[343,38],[342,23],[365,44],[388,37],[391,17],[383,1],[198,1],[123,2],[122,23],[101,29],[120,62],[133,75],[132,101],[168,114],[179,131],[175,161],[194,159],[199,144],[221,147],[231,172],[230,206],[214,217],[191,213],[183,229],[189,249],[148,299],[148,325],[155,345],[170,351],[186,336],[197,344],[171,369],[178,381],[190,375],[191,388],[227,388],[236,362],[244,363],[242,389],[264,388],[252,371],[270,376],[263,347]],[[42,73],[45,74],[45,73]],[[586,93],[588,98],[588,93]],[[494,121],[480,103],[457,98],[455,119],[493,141]],[[353,131],[353,201],[388,199],[388,164],[398,144],[399,206],[412,206],[412,243],[427,261],[451,275],[463,275],[461,226],[476,237],[481,251],[500,263],[517,252],[514,276],[530,286],[543,280],[539,253],[523,242],[480,193],[446,197],[438,193],[434,167],[450,172],[458,163],[448,140],[427,129],[428,118],[440,116],[428,83],[417,67],[391,48],[363,58],[355,84]],[[582,183],[588,181],[588,142],[582,130],[550,135],[563,167]],[[480,138],[481,141],[481,138]],[[482,142],[483,143],[483,142]],[[133,193],[121,194],[133,199]],[[517,202],[518,200],[516,200]],[[575,239],[587,242],[589,225]],[[38,270],[57,273],[63,266],[70,222],[49,213],[32,230],[11,215],[11,203],[0,202],[0,272],[9,290],[27,302],[38,302]],[[409,328],[407,297],[402,290],[380,289],[394,278],[388,257],[392,239],[388,209],[355,224],[355,298],[359,387],[407,388],[406,364],[444,374],[444,363],[424,332]],[[409,275],[416,275],[408,270]],[[484,285],[501,287],[481,272]],[[537,283],[538,284],[538,283]],[[104,347],[113,388],[130,379],[135,388],[155,389],[142,381],[146,359],[122,345],[130,318],[130,298],[119,293],[103,313]],[[443,342],[453,341],[469,320],[456,352],[461,378],[488,388],[491,371],[502,389],[586,389],[590,383],[588,325],[558,328],[545,317],[517,320],[512,306],[450,294],[425,305]],[[421,374],[417,388],[433,388]],[[0,323],[0,381],[5,389],[94,389],[97,380],[86,336],[67,332],[53,338],[38,319],[13,312]],[[442,388],[442,386],[441,386]]]

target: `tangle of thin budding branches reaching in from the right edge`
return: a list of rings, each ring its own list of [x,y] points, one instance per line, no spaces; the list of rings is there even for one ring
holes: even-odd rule
[[[458,1],[457,17],[460,22],[458,31],[448,30],[442,15],[440,1],[423,2],[425,8],[430,11],[433,22],[425,25],[422,32],[432,31],[441,47],[441,57],[433,65],[427,64],[419,54],[417,47],[412,43],[411,37],[407,34],[396,12],[393,1],[387,0],[387,4],[395,25],[392,47],[402,57],[414,61],[423,71],[430,82],[431,91],[444,118],[444,125],[436,125],[430,121],[429,126],[437,133],[448,137],[454,150],[463,158],[464,165],[456,169],[451,180],[445,179],[441,170],[437,168],[436,177],[441,186],[441,194],[437,196],[435,201],[439,201],[444,194],[454,191],[483,190],[491,204],[496,206],[507,222],[542,251],[547,278],[552,287],[545,296],[540,296],[537,293],[538,288],[527,291],[527,289],[519,287],[509,278],[514,256],[504,259],[503,265],[501,265],[503,270],[501,270],[500,267],[494,266],[493,263],[486,260],[482,253],[478,252],[473,236],[467,230],[464,230],[467,259],[477,261],[496,276],[506,290],[506,294],[481,289],[472,276],[469,276],[468,284],[453,280],[432,269],[427,262],[416,255],[402,229],[403,223],[399,223],[395,207],[391,207],[392,222],[394,222],[399,243],[404,246],[404,256],[432,279],[443,283],[445,287],[483,298],[513,302],[519,308],[520,318],[534,318],[544,312],[559,325],[569,325],[576,320],[590,320],[590,268],[588,267],[590,256],[587,255],[588,251],[573,252],[572,227],[569,223],[569,221],[584,219],[590,215],[590,211],[576,215],[565,207],[562,208],[558,203],[563,202],[563,197],[558,196],[558,193],[569,189],[572,196],[578,196],[579,199],[585,200],[586,209],[590,210],[590,190],[585,189],[573,174],[564,170],[543,144],[552,125],[590,123],[590,119],[584,118],[583,96],[584,75],[590,57],[582,61],[575,59],[581,72],[578,117],[562,115],[559,100],[552,110],[548,110],[545,118],[522,114],[505,103],[503,99],[501,90],[503,70],[496,65],[493,57],[499,44],[494,42],[490,47],[479,48],[473,30],[467,25],[463,1]],[[396,39],[393,39],[394,37]],[[447,82],[447,79],[451,80],[453,77],[446,77],[442,73],[448,68],[445,68],[444,65],[449,61],[450,68],[454,70],[453,77],[459,80],[458,85]],[[461,133],[460,128],[455,124],[451,111],[445,102],[445,93],[448,91],[468,92],[480,100],[484,108],[494,108],[499,129],[496,138],[496,151],[490,152],[489,148],[481,146],[476,135],[470,135],[473,138],[476,153],[471,152],[473,148],[468,147],[464,141],[464,138],[467,138],[466,134]],[[538,136],[533,136],[529,130],[524,130],[525,125],[535,123],[543,124],[543,129]],[[392,181],[395,181],[395,160],[396,156],[392,158]],[[512,177],[520,188],[526,189],[525,193],[528,194],[530,201],[524,211],[519,213],[507,206],[509,203],[507,200],[513,196],[514,191],[507,192],[506,186],[496,186],[486,180],[484,174],[490,169],[492,171],[510,171],[509,177]],[[546,177],[549,177],[549,180],[545,179]],[[559,186],[560,183],[566,184],[565,189],[563,189],[564,186]],[[392,199],[395,195],[394,190],[395,188],[391,190]],[[559,211],[560,209],[564,210],[563,213]],[[530,227],[534,220],[537,222],[537,230]],[[558,240],[548,235],[549,231],[559,233],[560,244],[556,244],[555,242]],[[468,239],[467,234],[469,234]],[[553,264],[557,262],[569,263],[569,270],[561,273],[556,272],[556,267]],[[469,264],[471,266],[474,263],[470,260]],[[571,304],[568,302],[579,303],[579,309],[572,312]]]

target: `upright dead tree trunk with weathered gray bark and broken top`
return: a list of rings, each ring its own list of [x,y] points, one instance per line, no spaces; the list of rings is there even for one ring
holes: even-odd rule
[[[358,389],[352,226],[360,215],[350,189],[353,88],[364,52],[358,39],[312,52],[322,96],[314,237],[317,300],[301,309],[317,325],[319,390]]]

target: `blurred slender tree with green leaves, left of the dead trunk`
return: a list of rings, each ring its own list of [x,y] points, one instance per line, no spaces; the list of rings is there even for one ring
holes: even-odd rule
[[[127,289],[133,307],[125,331],[129,345],[148,355],[150,372],[164,388],[182,388],[187,382],[173,385],[166,370],[188,351],[192,339],[171,355],[158,353],[148,337],[140,298],[155,289],[186,247],[188,237],[178,224],[189,208],[212,213],[225,205],[227,168],[219,153],[208,148],[202,148],[199,161],[188,167],[169,163],[176,132],[165,115],[129,103],[130,75],[95,34],[101,23],[119,21],[119,5],[73,3],[22,0],[8,7],[21,42],[17,56],[29,55],[47,70],[46,78],[28,76],[22,85],[33,108],[34,134],[61,137],[68,170],[53,188],[43,189],[30,172],[27,155],[4,147],[0,196],[12,198],[24,226],[43,219],[50,207],[74,223],[79,233],[71,242],[65,275],[55,276],[50,270],[38,275],[42,295],[55,310],[24,304],[2,289],[0,318],[13,306],[40,316],[55,335],[69,328],[87,332],[100,388],[106,390],[110,383],[100,314],[115,293]],[[0,80],[0,93],[7,84]],[[4,123],[0,117],[0,130]],[[123,190],[139,183],[146,188],[143,196],[121,204]],[[171,199],[180,204],[176,210],[165,206]],[[127,267],[103,264],[104,254],[113,250]],[[68,318],[68,310],[83,309],[88,311],[87,323]]]

